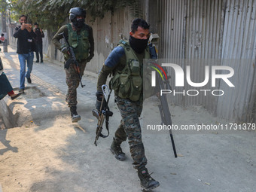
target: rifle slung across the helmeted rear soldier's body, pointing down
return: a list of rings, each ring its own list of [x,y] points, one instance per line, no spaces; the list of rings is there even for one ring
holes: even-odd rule
[[[75,53],[74,53],[73,47],[70,46],[69,41],[67,40],[66,36],[64,35],[64,32],[59,33],[59,35],[62,35],[62,36],[63,36],[64,41],[65,41],[65,44],[68,45],[67,49],[68,49],[68,52],[69,52],[69,55],[70,55],[70,59],[68,59],[68,60],[66,61],[64,68],[69,69],[69,66],[70,66],[72,63],[75,63],[75,69],[76,69],[76,71],[78,72],[78,77],[79,77],[79,79],[80,79],[81,87],[83,88],[84,85],[82,84],[82,76],[81,76],[81,73],[80,73],[78,61],[77,61],[77,59],[75,58]]]

